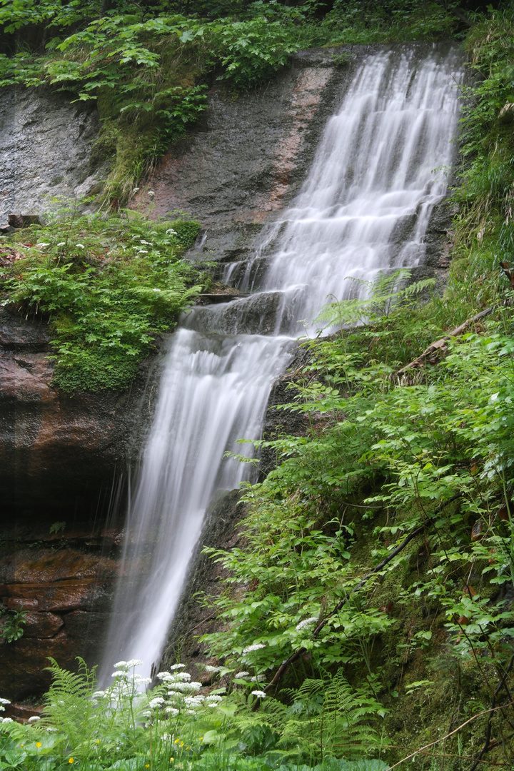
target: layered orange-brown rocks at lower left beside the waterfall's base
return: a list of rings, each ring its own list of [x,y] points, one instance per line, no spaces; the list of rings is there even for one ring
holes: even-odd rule
[[[34,527],[28,540],[14,528],[0,549],[0,694],[17,700],[48,688],[49,657],[76,669],[76,656],[98,661],[109,621],[110,597],[116,576],[116,552],[88,553],[91,541],[107,540],[87,530],[49,535]],[[25,613],[22,638],[2,636],[14,613]]]

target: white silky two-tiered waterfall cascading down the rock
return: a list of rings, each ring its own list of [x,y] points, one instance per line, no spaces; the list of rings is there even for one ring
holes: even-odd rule
[[[368,56],[294,204],[267,228],[254,259],[227,268],[227,281],[254,293],[195,309],[173,335],[129,506],[106,668],[140,658],[149,671],[160,657],[207,505],[248,478],[247,464],[223,456],[241,452],[237,439],[260,435],[298,321],[311,328],[328,296],[354,292],[349,276],[422,263],[446,190],[444,173],[432,170],[452,163],[461,71],[448,47],[422,58],[408,49]]]

